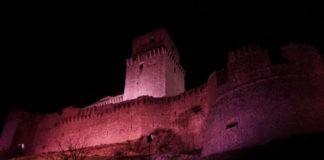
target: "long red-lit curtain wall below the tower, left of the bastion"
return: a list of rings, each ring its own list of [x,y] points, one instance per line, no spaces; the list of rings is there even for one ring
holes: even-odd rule
[[[98,106],[92,104],[85,108],[67,107],[64,108],[62,115],[53,113],[17,117],[15,113],[9,116],[14,119],[10,119],[10,122],[15,125],[7,123],[6,126],[20,128],[21,124],[26,122],[35,123],[28,124],[29,126],[24,127],[25,130],[22,132],[16,131],[16,128],[6,128],[5,130],[16,131],[19,134],[12,138],[15,140],[14,144],[10,144],[10,139],[7,139],[7,141],[1,139],[2,143],[7,143],[2,145],[2,149],[9,149],[11,145],[17,146],[24,143],[28,148],[26,152],[33,154],[60,151],[67,149],[71,144],[78,144],[80,147],[113,144],[138,139],[142,135],[148,135],[159,128],[177,129],[177,134],[190,134],[188,136],[193,137],[194,134],[199,132],[199,129],[189,132],[187,129],[195,128],[197,125],[195,119],[197,118],[192,117],[192,115],[187,117],[187,114],[189,114],[187,112],[193,112],[191,110],[195,106],[198,107],[198,112],[200,112],[199,108],[203,104],[201,98],[202,95],[205,95],[204,89],[204,86],[197,87],[174,97],[153,98],[143,96],[117,104],[102,105],[99,102]],[[206,108],[205,104],[204,107]],[[23,114],[27,115],[27,113]],[[20,123],[17,121],[20,121]],[[18,124],[20,124],[19,127]],[[25,133],[30,133],[33,136]],[[14,134],[8,133],[8,135]],[[194,138],[198,139],[199,137]],[[201,140],[199,140],[199,144],[197,144],[198,142],[196,144],[192,144],[191,141],[186,142],[188,140],[185,137],[183,139],[188,147],[194,148],[193,145],[201,147]]]

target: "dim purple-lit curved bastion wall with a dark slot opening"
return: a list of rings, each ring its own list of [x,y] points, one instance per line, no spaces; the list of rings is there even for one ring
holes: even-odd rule
[[[324,132],[323,63],[311,56],[317,65],[305,67],[289,54],[288,64],[247,72],[243,81],[217,86],[217,74],[211,75],[204,156]]]

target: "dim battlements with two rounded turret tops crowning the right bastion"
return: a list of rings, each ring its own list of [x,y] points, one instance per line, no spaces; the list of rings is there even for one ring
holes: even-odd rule
[[[227,69],[216,71],[217,86],[229,82],[247,83],[273,74],[302,74],[323,71],[320,52],[308,45],[290,44],[281,47],[288,63],[271,65],[268,51],[249,45],[229,53]],[[306,71],[307,70],[307,71]]]

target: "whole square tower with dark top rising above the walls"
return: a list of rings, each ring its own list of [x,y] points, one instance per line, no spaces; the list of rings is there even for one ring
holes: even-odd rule
[[[140,96],[174,96],[185,91],[179,53],[164,28],[133,40],[127,59],[124,100]]]

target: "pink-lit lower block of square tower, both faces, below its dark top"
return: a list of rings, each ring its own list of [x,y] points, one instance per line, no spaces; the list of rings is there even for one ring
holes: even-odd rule
[[[169,49],[160,47],[129,58],[123,99],[173,96],[184,92],[184,70],[174,55]]]

